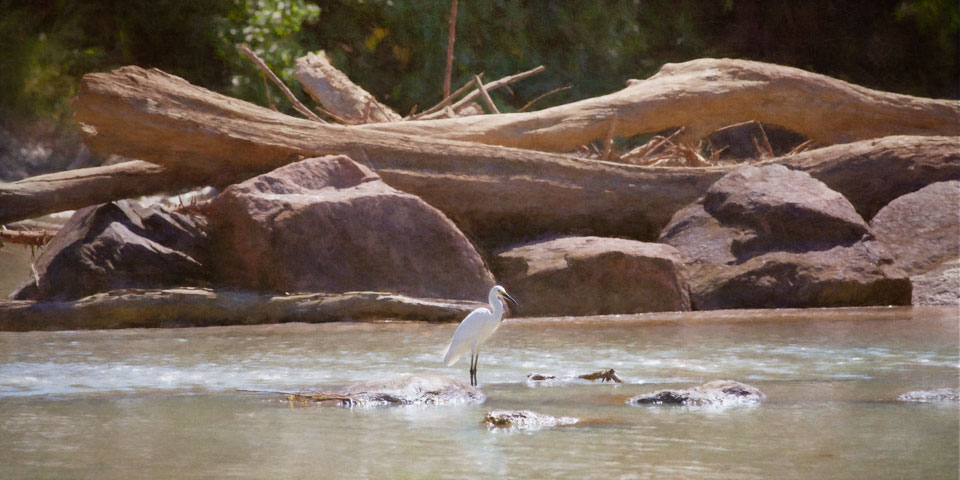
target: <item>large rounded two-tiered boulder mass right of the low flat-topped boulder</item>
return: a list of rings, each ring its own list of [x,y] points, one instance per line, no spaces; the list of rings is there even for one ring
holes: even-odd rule
[[[909,305],[906,275],[842,195],[780,165],[727,174],[660,235],[695,309]]]

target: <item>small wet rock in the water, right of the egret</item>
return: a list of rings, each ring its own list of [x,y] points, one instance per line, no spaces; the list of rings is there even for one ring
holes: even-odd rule
[[[760,403],[766,398],[756,387],[733,380],[713,380],[681,390],[658,390],[627,399],[631,405],[686,405],[731,407]]]

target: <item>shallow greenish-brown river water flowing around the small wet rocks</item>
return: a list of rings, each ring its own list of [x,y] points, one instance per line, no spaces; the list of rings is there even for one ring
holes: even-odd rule
[[[298,407],[237,389],[468,379],[453,324],[286,324],[0,333],[0,478],[956,479],[958,311],[870,308],[508,319],[482,405]],[[578,374],[614,368],[624,384]],[[531,387],[529,373],[560,386]],[[759,406],[636,407],[731,378]],[[569,380],[569,381],[566,381]],[[494,409],[594,419],[491,431]]]

